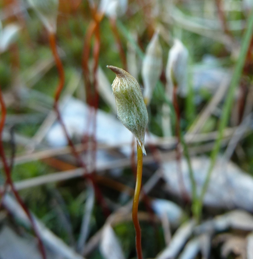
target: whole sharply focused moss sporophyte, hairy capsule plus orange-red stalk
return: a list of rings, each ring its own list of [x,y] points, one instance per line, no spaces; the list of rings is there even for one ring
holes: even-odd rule
[[[115,96],[118,118],[137,140],[137,174],[133,198],[133,223],[136,231],[136,250],[138,259],[142,258],[141,228],[138,220],[138,204],[141,191],[142,157],[146,154],[144,137],[148,123],[147,108],[137,80],[122,68],[107,66],[115,74],[112,92]]]

